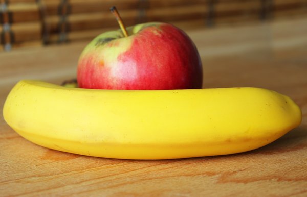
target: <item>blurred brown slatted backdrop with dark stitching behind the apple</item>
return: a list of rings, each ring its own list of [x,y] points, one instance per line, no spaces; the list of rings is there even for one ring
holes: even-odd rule
[[[90,41],[119,28],[112,6],[126,26],[164,21],[184,31],[307,17],[307,0],[0,0],[0,53]]]

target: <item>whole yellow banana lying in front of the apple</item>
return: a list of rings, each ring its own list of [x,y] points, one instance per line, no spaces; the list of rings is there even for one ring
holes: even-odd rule
[[[121,159],[245,152],[301,122],[289,97],[267,89],[94,90],[31,80],[15,85],[3,115],[41,146]]]

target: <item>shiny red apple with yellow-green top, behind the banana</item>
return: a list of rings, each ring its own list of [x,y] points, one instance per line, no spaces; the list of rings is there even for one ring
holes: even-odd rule
[[[194,43],[168,23],[151,22],[103,33],[87,45],[77,68],[80,88],[202,88],[202,63]]]

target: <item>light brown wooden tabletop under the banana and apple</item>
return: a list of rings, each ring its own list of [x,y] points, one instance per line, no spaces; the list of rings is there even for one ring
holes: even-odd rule
[[[300,106],[302,124],[246,153],[174,160],[121,160],[46,149],[0,116],[1,195],[306,196],[307,18],[188,31],[202,57],[204,88],[261,87]],[[86,43],[0,53],[0,106],[21,79],[75,77]],[[2,114],[2,111],[1,111]]]

